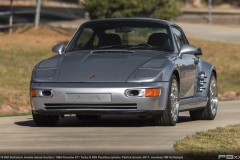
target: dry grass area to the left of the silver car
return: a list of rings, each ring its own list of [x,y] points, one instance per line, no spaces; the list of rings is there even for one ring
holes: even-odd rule
[[[18,28],[13,35],[0,35],[0,113],[2,105],[27,107],[30,75],[39,61],[54,54],[52,46],[66,43],[72,30],[48,27]]]

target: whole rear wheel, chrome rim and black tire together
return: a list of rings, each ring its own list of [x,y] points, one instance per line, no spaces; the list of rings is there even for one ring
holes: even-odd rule
[[[189,111],[192,120],[213,120],[217,115],[217,80],[214,73],[211,74],[211,80],[208,88],[208,103],[204,108]]]

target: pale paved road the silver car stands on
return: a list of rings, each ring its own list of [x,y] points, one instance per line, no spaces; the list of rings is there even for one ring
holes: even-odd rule
[[[37,127],[31,116],[0,118],[0,155],[167,155],[173,141],[219,126],[240,124],[240,101],[220,102],[213,121],[192,121],[180,113],[175,127],[155,126],[152,118],[103,116],[99,121],[60,119]]]

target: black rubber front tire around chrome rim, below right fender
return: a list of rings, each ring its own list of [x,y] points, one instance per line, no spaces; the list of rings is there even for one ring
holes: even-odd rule
[[[171,104],[171,94],[172,94],[172,85],[174,84],[174,88],[177,88],[177,90],[174,91],[174,101],[176,105],[176,110],[174,110],[174,113],[176,116],[173,117],[173,107]],[[176,86],[176,85],[177,86]],[[177,77],[175,75],[172,75],[169,89],[168,89],[168,100],[167,100],[167,106],[165,111],[162,114],[153,115],[153,120],[156,125],[158,126],[175,126],[178,121],[178,112],[179,112],[179,82],[177,80]],[[177,92],[177,93],[175,93]]]

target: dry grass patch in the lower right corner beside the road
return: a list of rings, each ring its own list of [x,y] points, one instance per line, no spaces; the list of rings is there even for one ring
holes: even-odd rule
[[[196,160],[218,159],[218,155],[240,154],[240,125],[218,127],[174,142],[174,149]]]

